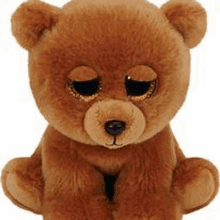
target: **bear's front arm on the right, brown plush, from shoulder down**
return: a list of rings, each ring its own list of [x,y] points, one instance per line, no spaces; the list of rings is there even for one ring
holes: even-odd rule
[[[178,150],[170,126],[145,146],[134,150],[132,163],[128,162],[120,172],[116,182],[115,219],[180,220],[181,206],[170,192],[176,167],[175,150]],[[179,158],[183,157],[179,149]]]

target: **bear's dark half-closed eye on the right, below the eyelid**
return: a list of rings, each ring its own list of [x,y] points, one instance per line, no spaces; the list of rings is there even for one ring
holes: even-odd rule
[[[128,96],[150,97],[156,90],[156,80],[154,81],[136,81],[127,76],[125,79],[125,87]]]

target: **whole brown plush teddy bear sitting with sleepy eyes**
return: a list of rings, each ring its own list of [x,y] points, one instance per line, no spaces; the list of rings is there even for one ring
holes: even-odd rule
[[[186,158],[169,122],[206,32],[193,0],[38,0],[12,16],[49,125],[34,154],[2,172],[5,194],[44,220],[180,220],[208,205],[218,171]]]

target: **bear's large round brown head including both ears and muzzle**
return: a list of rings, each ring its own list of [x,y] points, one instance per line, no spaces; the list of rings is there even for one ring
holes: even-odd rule
[[[117,149],[160,132],[182,106],[190,52],[206,32],[193,0],[38,0],[12,16],[29,52],[30,85],[51,126],[88,145]]]

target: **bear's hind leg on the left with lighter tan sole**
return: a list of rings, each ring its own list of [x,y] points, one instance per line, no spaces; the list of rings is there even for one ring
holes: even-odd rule
[[[41,161],[16,158],[2,171],[2,187],[6,196],[18,207],[41,214],[43,180]]]

